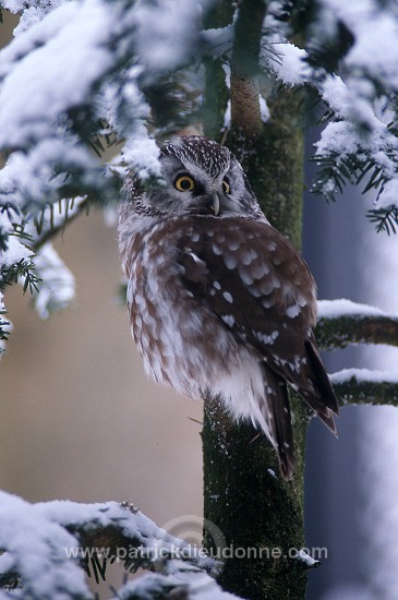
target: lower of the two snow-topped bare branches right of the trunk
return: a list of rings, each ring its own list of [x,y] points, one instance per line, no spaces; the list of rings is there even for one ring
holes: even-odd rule
[[[330,375],[340,404],[398,406],[398,372],[343,369]]]

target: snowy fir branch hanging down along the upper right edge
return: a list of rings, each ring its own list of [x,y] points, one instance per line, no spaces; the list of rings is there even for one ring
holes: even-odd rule
[[[364,181],[364,191],[373,188],[378,193],[370,216],[378,220],[378,229],[394,230],[398,217],[396,5],[387,3],[379,10],[376,0],[322,0],[319,7],[321,26],[310,40],[309,62],[315,69],[326,65],[327,71],[330,48],[340,47],[340,56],[338,64],[330,65],[335,72],[318,77],[331,120],[316,144],[321,172],[315,190],[334,200],[346,182]]]

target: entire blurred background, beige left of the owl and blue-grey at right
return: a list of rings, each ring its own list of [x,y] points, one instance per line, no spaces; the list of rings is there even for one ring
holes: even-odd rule
[[[16,24],[4,14],[0,46]],[[309,155],[312,142],[310,134]],[[306,194],[304,256],[319,298],[398,313],[398,238],[374,232],[366,202],[359,190],[330,206]],[[73,309],[41,322],[19,286],[5,295],[14,331],[0,368],[0,488],[31,502],[131,500],[159,526],[200,516],[202,404],[144,374],[116,300],[116,227],[93,209],[55,245],[76,279]],[[350,348],[325,361],[329,372],[397,370],[397,358]],[[345,408],[338,429],[336,441],[318,422],[310,428],[306,543],[326,547],[328,559],[310,574],[307,598],[396,600],[398,411]]]

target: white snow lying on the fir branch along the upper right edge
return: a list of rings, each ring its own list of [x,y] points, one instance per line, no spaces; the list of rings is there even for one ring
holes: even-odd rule
[[[362,153],[364,164],[373,159],[387,180],[376,207],[397,206],[398,140],[388,130],[388,121],[379,110],[379,100],[385,94],[381,88],[387,94],[398,89],[397,12],[394,3],[382,8],[376,0],[323,0],[316,27],[318,43],[333,37],[338,23],[351,32],[353,44],[340,61],[341,77],[327,74],[315,82],[337,120],[326,125],[315,144],[316,154],[325,158],[335,155],[337,165],[358,152]],[[383,103],[394,106],[385,96]],[[324,193],[334,195],[336,190],[327,185],[328,181]]]

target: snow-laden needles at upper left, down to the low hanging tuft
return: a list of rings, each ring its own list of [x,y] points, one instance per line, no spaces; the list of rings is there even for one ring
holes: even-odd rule
[[[129,136],[124,163],[137,167],[142,177],[158,173],[158,148],[143,124],[149,110],[135,84],[140,69],[128,70],[129,61],[136,63],[140,4],[128,0],[2,2],[22,16],[14,39],[0,52],[0,151],[9,155],[0,169],[0,271],[4,275],[5,268],[10,272],[21,262],[36,266],[43,284],[35,304],[44,317],[70,303],[74,283],[49,245],[34,256],[29,249],[37,239],[33,216],[55,202],[65,202],[59,190],[65,182],[68,187],[68,173],[80,177],[83,193],[86,189],[99,193],[117,171],[94,156],[85,139],[89,133],[76,128],[79,111],[93,106],[94,122],[111,117],[113,130]],[[121,63],[131,77],[123,85],[118,81]],[[121,101],[130,108],[124,129]],[[67,211],[62,217],[67,219]],[[52,219],[45,226],[51,228]]]

